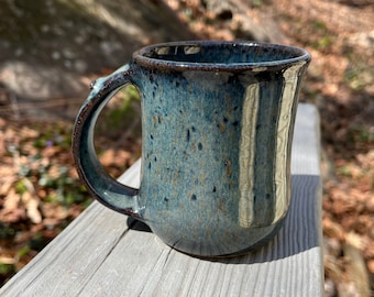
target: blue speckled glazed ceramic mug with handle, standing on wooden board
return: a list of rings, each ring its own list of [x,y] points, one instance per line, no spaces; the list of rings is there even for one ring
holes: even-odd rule
[[[264,244],[290,199],[290,150],[310,55],[256,42],[194,41],[143,47],[99,78],[81,107],[73,152],[88,191],[198,256]],[[110,177],[94,147],[96,120],[123,86],[142,102],[140,188]]]

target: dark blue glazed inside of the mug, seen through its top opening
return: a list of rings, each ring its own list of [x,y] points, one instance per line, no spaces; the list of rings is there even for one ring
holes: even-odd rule
[[[179,42],[143,47],[134,59],[168,66],[272,66],[309,61],[302,48],[255,42]]]

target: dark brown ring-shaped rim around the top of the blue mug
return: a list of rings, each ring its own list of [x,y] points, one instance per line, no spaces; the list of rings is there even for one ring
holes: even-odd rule
[[[231,45],[231,46],[250,46],[250,47],[271,47],[278,51],[287,51],[294,53],[295,57],[264,61],[264,62],[242,62],[242,63],[210,63],[210,62],[185,62],[185,61],[173,61],[162,59],[146,56],[155,50],[172,46],[212,46],[212,45]],[[268,68],[284,68],[285,66],[292,66],[299,63],[308,64],[311,59],[310,53],[305,48],[285,45],[277,43],[265,43],[256,41],[180,41],[180,42],[165,42],[144,46],[139,51],[134,52],[133,61],[146,68],[164,68],[174,70],[267,70]]]

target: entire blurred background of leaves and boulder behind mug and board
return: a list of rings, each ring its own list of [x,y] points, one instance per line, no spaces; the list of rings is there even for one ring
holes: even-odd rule
[[[326,296],[371,296],[373,20],[372,0],[2,0],[0,286],[91,202],[70,156],[91,80],[152,43],[255,40],[312,55],[300,101],[321,118]],[[107,106],[96,146],[113,176],[140,157],[135,88]]]

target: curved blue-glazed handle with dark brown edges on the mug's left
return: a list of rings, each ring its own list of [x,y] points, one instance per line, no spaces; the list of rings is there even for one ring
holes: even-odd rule
[[[139,189],[112,178],[95,151],[95,124],[107,102],[124,85],[133,84],[131,66],[124,65],[111,75],[91,84],[91,92],[80,108],[73,130],[73,158],[88,193],[105,206],[132,217],[140,217]]]

